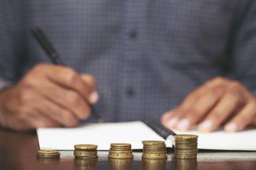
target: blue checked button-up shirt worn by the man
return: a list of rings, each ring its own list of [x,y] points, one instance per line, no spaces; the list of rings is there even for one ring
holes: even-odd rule
[[[217,76],[256,94],[253,0],[2,0],[1,87],[50,62],[32,26],[68,67],[95,77],[105,121],[159,119]]]

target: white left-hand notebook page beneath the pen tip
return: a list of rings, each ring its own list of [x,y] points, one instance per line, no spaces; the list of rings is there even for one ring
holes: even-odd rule
[[[40,149],[73,150],[77,144],[98,145],[110,149],[110,143],[130,143],[132,149],[142,149],[142,140],[163,140],[144,123],[91,123],[78,128],[38,128]],[[171,147],[171,143],[166,143]]]

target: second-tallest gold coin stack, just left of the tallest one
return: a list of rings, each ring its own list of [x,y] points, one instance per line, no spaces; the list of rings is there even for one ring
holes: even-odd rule
[[[166,145],[164,141],[144,140],[142,158],[145,159],[166,159]]]

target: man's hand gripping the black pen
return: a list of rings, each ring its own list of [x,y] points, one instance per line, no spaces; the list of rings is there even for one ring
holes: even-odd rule
[[[0,125],[14,130],[74,127],[96,103],[95,79],[73,69],[38,64],[0,94]]]

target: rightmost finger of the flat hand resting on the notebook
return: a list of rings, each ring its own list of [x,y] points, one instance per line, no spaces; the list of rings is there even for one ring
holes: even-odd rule
[[[256,117],[256,106],[255,103],[248,103],[242,111],[235,115],[229,123],[224,126],[224,130],[227,132],[236,132],[242,130],[250,123],[253,123],[253,120]]]

